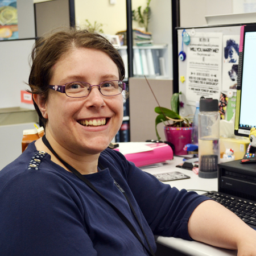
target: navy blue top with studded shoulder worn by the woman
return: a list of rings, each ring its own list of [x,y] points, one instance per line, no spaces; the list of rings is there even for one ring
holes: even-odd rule
[[[114,180],[154,250],[154,235],[191,240],[188,219],[207,197],[161,183],[117,151],[106,149],[99,161],[105,169],[86,178],[125,214],[143,241]],[[0,172],[0,230],[1,255],[148,255],[108,203],[50,155],[39,154],[34,142]]]

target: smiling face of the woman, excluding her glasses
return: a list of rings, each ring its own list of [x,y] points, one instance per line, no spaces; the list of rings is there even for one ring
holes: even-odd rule
[[[54,65],[50,84],[84,81],[98,85],[109,80],[119,80],[119,76],[117,65],[106,53],[76,48]],[[48,139],[78,155],[98,154],[109,146],[122,124],[122,94],[106,97],[94,86],[88,96],[70,98],[49,90],[42,114],[48,118]],[[87,121],[93,125],[84,125]]]

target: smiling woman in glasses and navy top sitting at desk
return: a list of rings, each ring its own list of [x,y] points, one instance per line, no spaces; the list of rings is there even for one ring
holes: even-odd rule
[[[71,28],[36,43],[29,85],[46,135],[0,172],[1,255],[152,256],[154,235],[246,244],[241,255],[255,255],[242,254],[256,235],[235,214],[108,148],[122,123],[124,75],[98,34]]]

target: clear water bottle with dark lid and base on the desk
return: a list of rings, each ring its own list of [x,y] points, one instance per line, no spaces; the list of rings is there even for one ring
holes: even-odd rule
[[[201,99],[199,110],[199,177],[214,178],[220,161],[218,100]]]

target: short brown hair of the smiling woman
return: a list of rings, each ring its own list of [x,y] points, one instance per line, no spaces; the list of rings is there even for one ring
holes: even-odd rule
[[[105,52],[117,65],[119,80],[123,80],[125,77],[122,57],[104,36],[77,28],[63,28],[36,40],[31,53],[32,65],[28,79],[31,91],[29,92],[39,94],[44,101],[47,100],[52,67],[72,48],[91,48]],[[35,102],[34,106],[43,126],[45,126],[47,119],[42,116]]]

